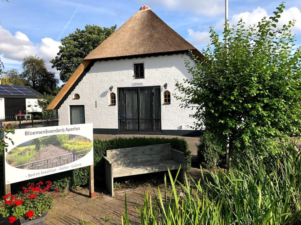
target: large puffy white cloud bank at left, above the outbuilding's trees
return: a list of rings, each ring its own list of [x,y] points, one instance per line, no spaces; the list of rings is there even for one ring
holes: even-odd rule
[[[57,55],[60,45],[61,42],[47,37],[42,38],[39,44],[34,44],[26,34],[17,31],[15,35],[12,35],[0,26],[0,54],[4,66],[5,64],[21,66],[21,61],[25,56],[39,55],[40,58],[44,58],[48,70],[56,73],[59,78],[58,71],[51,68],[52,64],[49,61]]]

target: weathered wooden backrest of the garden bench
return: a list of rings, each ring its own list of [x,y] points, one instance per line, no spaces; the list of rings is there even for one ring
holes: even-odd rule
[[[154,164],[172,159],[171,144],[107,150],[114,166]]]

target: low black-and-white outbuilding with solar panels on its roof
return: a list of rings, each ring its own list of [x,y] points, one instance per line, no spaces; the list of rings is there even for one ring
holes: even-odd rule
[[[42,112],[37,96],[44,97],[29,86],[0,84],[0,119],[14,118],[18,113]]]

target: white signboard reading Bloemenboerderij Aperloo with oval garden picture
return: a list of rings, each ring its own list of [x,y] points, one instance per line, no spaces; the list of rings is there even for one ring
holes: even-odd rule
[[[16,129],[5,155],[5,184],[93,165],[93,124]]]

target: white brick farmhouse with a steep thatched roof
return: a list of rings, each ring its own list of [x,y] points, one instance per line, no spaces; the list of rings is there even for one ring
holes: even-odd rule
[[[98,134],[198,135],[189,128],[193,111],[173,96],[176,80],[191,78],[189,50],[202,56],[141,7],[84,59],[48,109],[58,109],[60,125],[93,123]]]

